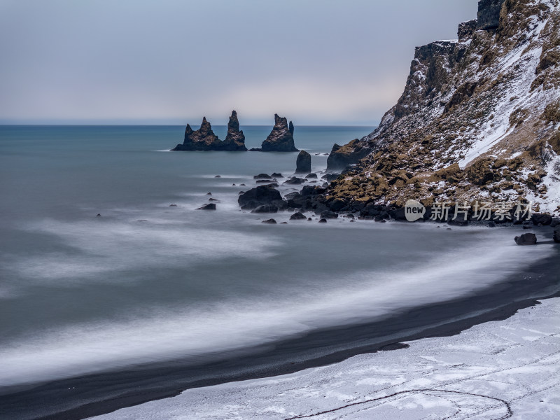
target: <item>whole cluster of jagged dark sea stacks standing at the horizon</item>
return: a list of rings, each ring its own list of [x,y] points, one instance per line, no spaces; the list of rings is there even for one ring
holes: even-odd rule
[[[263,152],[297,152],[293,139],[294,127],[286,118],[274,114],[274,127],[267,139],[262,142],[260,148],[251,148],[251,151]],[[200,129],[194,131],[187,124],[185,129],[185,137],[183,144],[178,144],[172,151],[247,151],[245,146],[245,135],[239,130],[239,120],[237,112],[232,111],[230,121],[228,123],[228,134],[225,140],[218,139],[218,136],[212,131],[210,123],[206,117],[202,118]]]

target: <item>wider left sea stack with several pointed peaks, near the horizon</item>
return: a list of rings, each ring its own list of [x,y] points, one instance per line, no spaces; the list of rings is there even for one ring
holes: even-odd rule
[[[239,120],[237,113],[232,111],[230,123],[228,123],[228,135],[225,141],[218,139],[212,131],[206,117],[202,118],[200,129],[193,131],[187,124],[183,144],[178,144],[172,151],[246,151],[245,136],[239,131]]]

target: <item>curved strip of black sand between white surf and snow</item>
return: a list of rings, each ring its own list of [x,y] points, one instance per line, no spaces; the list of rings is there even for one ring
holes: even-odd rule
[[[519,235],[519,228],[507,228]],[[552,230],[535,228],[550,237]],[[552,241],[552,240],[551,240]],[[545,243],[545,242],[540,242]],[[468,281],[468,279],[457,279]],[[229,354],[225,360],[186,365],[181,360],[53,381],[2,395],[2,419],[85,419],[122,407],[168,398],[188,388],[272,377],[328,365],[359,353],[402,348],[401,341],[455,335],[472,325],[504,319],[537,300],[560,295],[554,255],[469,297],[416,307],[381,321],[346,325]],[[10,391],[10,390],[4,390]]]

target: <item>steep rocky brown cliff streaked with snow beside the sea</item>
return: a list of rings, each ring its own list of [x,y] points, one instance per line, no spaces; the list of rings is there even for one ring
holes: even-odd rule
[[[398,103],[339,149],[349,163],[371,153],[326,198],[353,209],[527,199],[559,214],[559,127],[560,1],[481,0],[458,41],[416,48]]]

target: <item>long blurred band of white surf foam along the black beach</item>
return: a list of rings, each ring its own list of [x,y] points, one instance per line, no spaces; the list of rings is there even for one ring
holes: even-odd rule
[[[346,279],[302,279],[299,290],[294,288],[288,297],[258,295],[157,312],[139,309],[111,323],[77,323],[48,330],[0,349],[0,386],[134,363],[200,359],[211,352],[386,316],[407,307],[475,293],[517,272],[527,260],[544,258],[553,251],[552,245],[521,248],[511,240],[496,246],[497,237],[500,235],[493,235],[493,242],[486,238],[486,245],[433,255],[432,260],[406,271],[372,269],[349,272]],[[119,245],[119,241],[113,244]],[[325,286],[318,286],[321,284]]]

